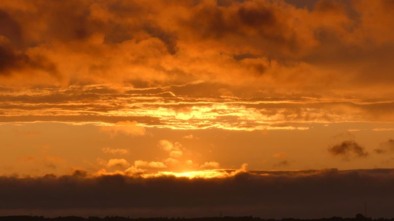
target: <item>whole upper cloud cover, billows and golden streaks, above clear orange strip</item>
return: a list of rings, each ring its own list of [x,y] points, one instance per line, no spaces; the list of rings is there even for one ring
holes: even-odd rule
[[[390,10],[383,0],[6,0],[0,122],[129,135],[394,122]]]

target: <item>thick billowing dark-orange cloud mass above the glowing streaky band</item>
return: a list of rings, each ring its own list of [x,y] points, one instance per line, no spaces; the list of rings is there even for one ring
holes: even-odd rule
[[[294,1],[43,4],[24,0],[16,7],[6,0],[0,7],[4,27],[0,35],[9,41],[11,49],[6,53],[9,56],[3,56],[3,63],[22,67],[13,73],[14,80],[7,81],[9,84],[21,83],[17,79],[29,67],[51,67],[41,64],[46,62],[31,61],[40,55],[53,63],[60,77],[52,81],[33,77],[24,84],[270,81],[273,88],[295,85],[293,88],[300,90],[300,86],[309,85],[324,86],[324,91],[334,84],[319,81],[316,73],[320,73],[327,80],[338,76],[340,82],[335,86],[346,88],[346,82],[352,80],[368,82],[369,76],[363,77],[357,65],[380,68],[384,62],[379,61],[380,57],[392,58],[387,52],[390,50],[383,49],[392,46],[394,36],[391,15],[382,16],[389,6],[383,0],[369,4],[316,1],[308,10],[297,7]],[[176,13],[179,11],[182,13]],[[379,13],[370,13],[375,11]],[[134,53],[127,53],[130,50]],[[339,56],[334,51],[343,53]],[[386,55],[382,55],[384,52]],[[70,62],[65,64],[64,60]],[[218,62],[226,65],[212,65]],[[330,71],[335,76],[320,72],[323,67],[332,68],[327,63],[338,64],[335,72]],[[392,69],[384,66],[384,74],[374,77],[381,82]],[[305,67],[311,72],[305,74]],[[354,71],[346,72],[350,67]]]

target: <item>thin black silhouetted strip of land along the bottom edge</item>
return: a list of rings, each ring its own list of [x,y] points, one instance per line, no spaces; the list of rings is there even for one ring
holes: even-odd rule
[[[243,216],[243,217],[201,217],[201,218],[167,218],[167,217],[156,217],[156,218],[128,218],[121,216],[106,216],[100,217],[79,217],[79,216],[63,216],[55,218],[47,218],[43,216],[0,216],[0,221],[394,221],[394,218],[378,218],[371,219],[366,218],[361,214],[357,214],[355,218],[342,218],[342,217],[331,217],[331,218],[320,218],[320,219],[295,219],[295,218],[283,218],[283,219],[262,219],[259,217]]]

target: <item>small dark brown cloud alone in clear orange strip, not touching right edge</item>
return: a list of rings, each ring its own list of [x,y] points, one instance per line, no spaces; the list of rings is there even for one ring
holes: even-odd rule
[[[349,154],[353,154],[356,157],[368,156],[368,152],[365,150],[365,148],[353,140],[343,141],[339,144],[335,144],[329,148],[329,152],[334,156],[348,157]]]

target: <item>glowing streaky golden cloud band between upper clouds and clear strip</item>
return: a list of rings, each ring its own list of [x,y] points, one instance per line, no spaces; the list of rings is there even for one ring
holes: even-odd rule
[[[223,87],[202,82],[143,89],[89,85],[20,91],[4,87],[0,92],[0,122],[95,124],[114,137],[144,136],[146,127],[308,129],[309,123],[394,121],[394,103],[383,98],[214,94]],[[177,97],[167,97],[163,94],[166,91]],[[252,93],[247,87],[241,91]],[[184,138],[198,139],[190,134]],[[172,154],[172,158],[182,155],[176,149]]]

